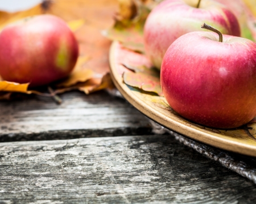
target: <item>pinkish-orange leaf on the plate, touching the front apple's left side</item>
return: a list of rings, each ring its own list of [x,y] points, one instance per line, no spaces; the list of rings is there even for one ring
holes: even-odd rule
[[[125,72],[123,73],[123,81],[129,86],[140,88],[143,91],[155,92],[159,96],[163,96],[159,77],[142,72]]]

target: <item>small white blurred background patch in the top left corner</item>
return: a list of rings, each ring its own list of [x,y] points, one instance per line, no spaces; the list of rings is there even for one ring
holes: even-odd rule
[[[0,2],[0,10],[8,12],[21,11],[35,6],[40,2],[42,0],[2,0]]]

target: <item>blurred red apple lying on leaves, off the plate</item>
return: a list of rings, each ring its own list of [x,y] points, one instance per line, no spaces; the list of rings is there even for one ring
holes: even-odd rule
[[[68,25],[53,15],[32,16],[0,33],[0,75],[10,82],[41,86],[71,73],[78,45]]]

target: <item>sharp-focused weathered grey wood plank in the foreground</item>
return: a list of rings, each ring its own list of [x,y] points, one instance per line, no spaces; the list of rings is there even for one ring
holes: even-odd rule
[[[0,143],[0,203],[255,203],[253,182],[170,135]]]

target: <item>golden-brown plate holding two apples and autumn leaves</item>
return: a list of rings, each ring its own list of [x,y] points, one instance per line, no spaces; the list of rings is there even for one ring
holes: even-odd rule
[[[255,120],[236,129],[213,129],[186,120],[177,114],[163,96],[127,86],[123,73],[131,70],[124,65],[145,65],[151,63],[143,54],[132,52],[115,41],[110,48],[110,69],[113,82],[129,103],[158,124],[186,137],[244,155],[256,156]]]

